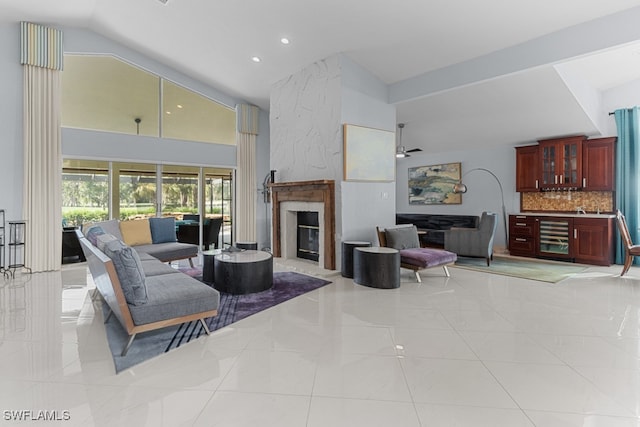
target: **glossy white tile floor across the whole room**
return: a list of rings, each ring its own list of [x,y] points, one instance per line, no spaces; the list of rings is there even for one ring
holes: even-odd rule
[[[394,290],[333,275],[119,375],[84,265],[0,279],[0,426],[44,410],[78,426],[638,427],[640,268],[620,270],[403,271]]]

